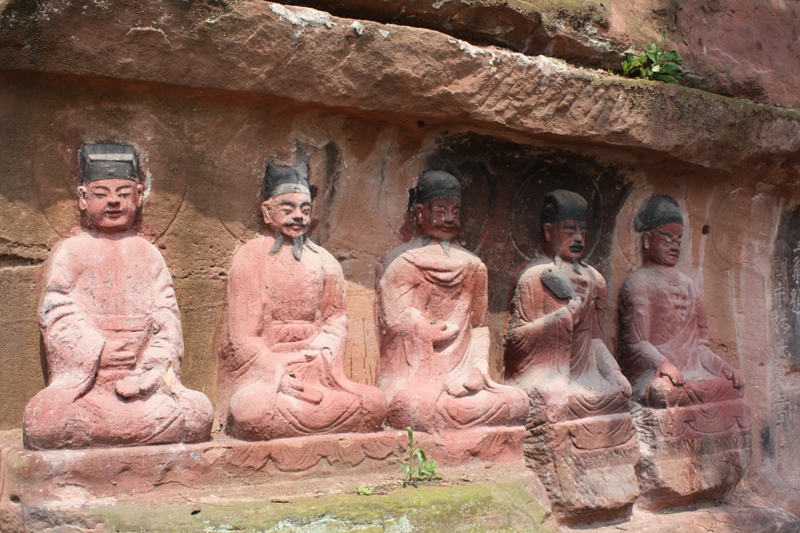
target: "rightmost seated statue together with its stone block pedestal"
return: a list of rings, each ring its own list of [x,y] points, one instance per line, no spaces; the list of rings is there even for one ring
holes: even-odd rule
[[[747,466],[750,410],[744,378],[711,351],[700,288],[675,268],[683,216],[654,196],[635,219],[644,264],[620,289],[619,362],[633,385],[647,444],[642,468],[651,507],[721,499]]]

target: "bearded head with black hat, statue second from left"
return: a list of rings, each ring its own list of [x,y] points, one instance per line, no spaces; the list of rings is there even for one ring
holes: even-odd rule
[[[263,191],[266,200],[261,204],[261,214],[273,232],[290,239],[308,234],[315,192],[308,185],[308,165],[290,167],[268,162]]]

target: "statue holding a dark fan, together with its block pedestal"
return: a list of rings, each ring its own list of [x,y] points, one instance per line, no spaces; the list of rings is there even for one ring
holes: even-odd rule
[[[505,350],[506,383],[531,401],[527,450],[557,514],[574,519],[630,512],[638,495],[631,387],[602,339],[606,282],[581,260],[586,214],[574,192],[545,194],[541,254],[517,281]]]

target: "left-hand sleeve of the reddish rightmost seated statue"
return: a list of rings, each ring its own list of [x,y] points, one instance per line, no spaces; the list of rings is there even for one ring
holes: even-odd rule
[[[644,278],[643,283],[629,281],[623,283],[619,293],[619,346],[620,361],[633,384],[643,379],[649,381],[666,358],[650,343],[654,312],[651,300],[659,298],[658,293],[647,286],[652,280]]]

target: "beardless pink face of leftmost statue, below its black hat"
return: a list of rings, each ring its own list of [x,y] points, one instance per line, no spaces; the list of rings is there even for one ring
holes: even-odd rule
[[[103,233],[126,231],[142,207],[142,186],[123,178],[90,181],[78,187],[78,207],[89,226]]]

